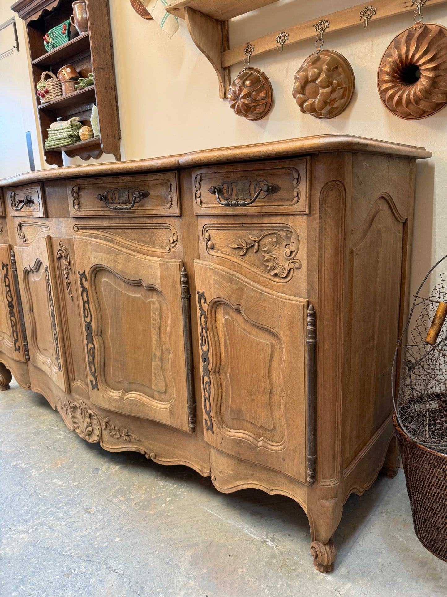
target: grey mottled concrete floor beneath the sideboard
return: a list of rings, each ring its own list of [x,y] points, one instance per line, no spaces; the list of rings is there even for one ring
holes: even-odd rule
[[[289,498],[220,494],[186,467],[106,452],[14,381],[0,413],[2,597],[447,595],[447,564],[415,537],[402,470],[349,498],[324,575]]]

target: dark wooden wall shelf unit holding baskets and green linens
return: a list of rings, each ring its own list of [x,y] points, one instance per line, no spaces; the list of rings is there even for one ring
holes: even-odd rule
[[[88,21],[92,23],[89,31],[78,35],[71,26],[72,39],[51,52],[45,52],[42,38],[52,27],[70,19],[72,0],[18,0],[11,7],[26,24],[42,143],[45,144],[46,129],[52,122],[79,116],[84,125],[90,125],[92,107],[94,104],[98,107],[100,137],[59,149],[44,149],[47,164],[62,166],[63,153],[82,159],[111,153],[118,161],[121,159],[108,0],[86,0],[86,6]],[[42,72],[48,70],[57,75],[66,64],[73,64],[81,77],[93,73],[95,85],[41,104],[35,90]]]

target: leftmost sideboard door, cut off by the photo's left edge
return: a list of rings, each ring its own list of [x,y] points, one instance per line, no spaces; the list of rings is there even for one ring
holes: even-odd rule
[[[0,260],[2,268],[0,350],[16,361],[25,361],[27,347],[23,344],[15,272],[11,266],[11,245],[0,245]]]

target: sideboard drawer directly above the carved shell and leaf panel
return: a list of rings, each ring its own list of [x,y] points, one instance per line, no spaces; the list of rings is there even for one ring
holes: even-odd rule
[[[195,168],[194,213],[309,213],[308,158]]]

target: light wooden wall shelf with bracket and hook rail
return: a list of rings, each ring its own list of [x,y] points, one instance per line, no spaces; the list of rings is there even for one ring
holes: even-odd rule
[[[229,67],[243,61],[244,48],[247,44],[253,44],[253,57],[275,50],[278,47],[277,36],[280,33],[288,33],[286,45],[296,44],[300,41],[315,38],[315,23],[320,19],[326,19],[330,25],[325,36],[331,32],[347,29],[353,26],[363,26],[361,11],[368,2],[358,4],[351,8],[344,8],[336,13],[315,17],[311,21],[298,23],[285,27],[282,30],[269,33],[257,39],[247,40],[245,44],[235,48],[228,47],[228,20],[238,17],[241,14],[249,13],[257,8],[273,4],[276,0],[174,0],[166,7],[168,13],[185,19],[191,38],[198,49],[212,64],[219,79],[219,96],[226,98],[230,81]],[[445,4],[447,0],[430,0],[424,6],[426,13],[430,7],[437,4]],[[371,17],[374,24],[378,19],[393,17],[398,14],[412,13],[415,5],[410,0],[374,0],[375,14]],[[426,19],[427,20],[427,19]],[[412,19],[408,19],[408,26],[411,26]],[[309,47],[309,52],[312,50]]]

